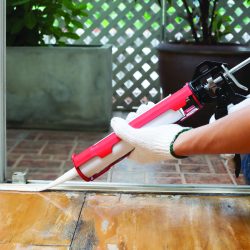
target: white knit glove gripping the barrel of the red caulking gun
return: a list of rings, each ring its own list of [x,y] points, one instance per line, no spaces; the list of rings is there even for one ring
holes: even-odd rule
[[[145,106],[139,108],[138,113],[128,116],[129,120],[147,109]],[[111,127],[118,137],[135,148],[128,158],[139,163],[152,163],[178,157],[173,152],[173,143],[179,134],[190,129],[177,124],[135,129],[118,117],[111,120]]]

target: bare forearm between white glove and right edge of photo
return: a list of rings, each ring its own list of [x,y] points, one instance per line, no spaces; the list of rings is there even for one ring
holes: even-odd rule
[[[181,134],[177,155],[250,153],[250,106]]]

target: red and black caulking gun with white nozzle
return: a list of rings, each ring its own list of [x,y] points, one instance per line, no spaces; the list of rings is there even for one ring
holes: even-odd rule
[[[233,73],[250,63],[250,57],[232,69],[227,64],[205,61],[197,66],[193,80],[183,88],[166,97],[151,109],[136,117],[129,124],[134,128],[153,124],[179,123],[202,109],[206,103],[216,103],[215,118],[227,114],[229,104],[237,104],[246,97],[237,93],[237,88],[248,89],[241,85]],[[111,133],[93,146],[79,154],[72,155],[74,168],[52,181],[45,190],[68,181],[79,175],[85,181],[93,181],[133,150],[128,143]],[[39,190],[39,191],[41,191]]]

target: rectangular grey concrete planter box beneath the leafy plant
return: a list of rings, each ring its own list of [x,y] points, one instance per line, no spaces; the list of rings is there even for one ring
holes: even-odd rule
[[[111,46],[8,47],[11,127],[107,130],[112,115]]]

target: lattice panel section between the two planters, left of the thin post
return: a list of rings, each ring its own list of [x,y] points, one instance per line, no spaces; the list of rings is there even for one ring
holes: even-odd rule
[[[85,44],[113,45],[115,109],[129,110],[160,98],[155,51],[161,35],[160,12],[159,5],[149,1],[88,3],[89,18],[78,32]]]

